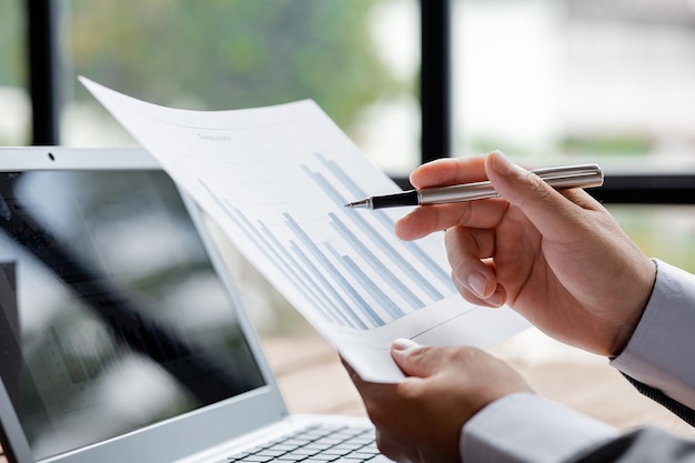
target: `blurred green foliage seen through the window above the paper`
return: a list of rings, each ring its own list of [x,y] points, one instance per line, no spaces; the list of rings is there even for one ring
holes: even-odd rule
[[[75,73],[151,102],[221,110],[310,98],[345,127],[406,89],[373,43],[376,3],[72,0],[69,56]]]

